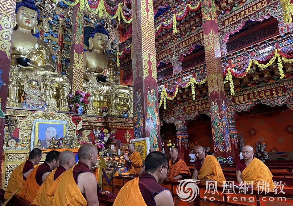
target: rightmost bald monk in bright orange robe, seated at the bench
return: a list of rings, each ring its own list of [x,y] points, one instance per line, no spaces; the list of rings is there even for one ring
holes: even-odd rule
[[[273,175],[269,168],[259,159],[254,158],[253,148],[246,145],[242,149],[242,160],[237,162],[236,177],[239,184],[253,184],[254,187],[263,186],[274,188]]]

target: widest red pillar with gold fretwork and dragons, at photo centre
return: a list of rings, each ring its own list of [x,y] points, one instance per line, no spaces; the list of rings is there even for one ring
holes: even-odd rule
[[[161,150],[153,2],[132,0],[134,138]]]

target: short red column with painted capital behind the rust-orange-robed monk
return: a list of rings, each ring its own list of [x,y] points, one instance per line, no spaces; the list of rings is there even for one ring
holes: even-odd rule
[[[188,146],[188,133],[187,133],[187,124],[188,121],[177,121],[174,122],[176,126],[176,140],[177,148],[179,150],[179,157],[186,162],[189,162],[189,146]]]

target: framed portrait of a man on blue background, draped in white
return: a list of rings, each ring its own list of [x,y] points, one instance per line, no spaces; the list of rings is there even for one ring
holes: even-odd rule
[[[31,131],[31,150],[35,148],[38,140],[41,140],[42,148],[47,149],[52,137],[67,135],[67,121],[35,119]]]

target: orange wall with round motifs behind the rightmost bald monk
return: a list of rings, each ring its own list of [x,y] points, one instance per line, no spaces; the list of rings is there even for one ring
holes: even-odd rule
[[[260,140],[266,143],[267,151],[293,151],[293,111],[276,111],[236,118],[237,133],[243,134],[244,145]]]

